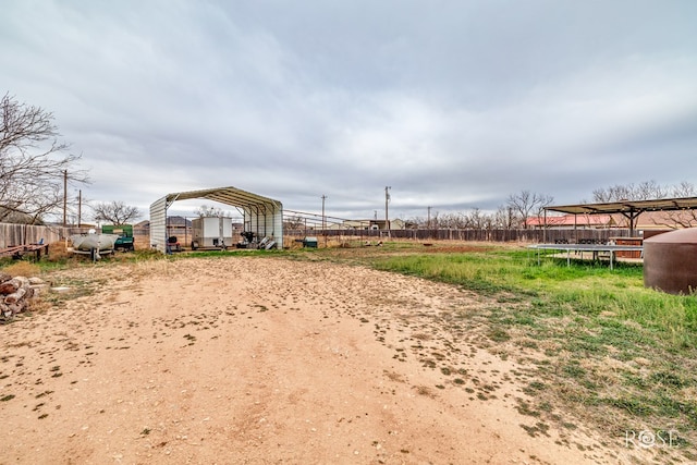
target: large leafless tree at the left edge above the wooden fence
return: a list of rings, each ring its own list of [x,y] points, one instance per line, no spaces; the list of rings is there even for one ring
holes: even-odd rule
[[[5,94],[0,114],[0,221],[24,213],[38,222],[60,211],[64,181],[86,183],[87,174],[75,168],[80,156],[64,154],[53,113]]]

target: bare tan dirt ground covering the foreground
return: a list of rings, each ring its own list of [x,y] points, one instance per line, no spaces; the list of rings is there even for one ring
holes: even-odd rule
[[[101,284],[0,327],[2,464],[628,462],[522,413],[484,323],[443,329],[490,305],[454,286],[249,257],[59,278]]]

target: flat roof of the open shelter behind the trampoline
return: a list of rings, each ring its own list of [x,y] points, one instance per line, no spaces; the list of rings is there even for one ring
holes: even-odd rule
[[[659,198],[653,200],[620,200],[604,204],[557,205],[546,210],[563,213],[634,213],[697,209],[697,197]],[[638,215],[637,213],[637,215]]]

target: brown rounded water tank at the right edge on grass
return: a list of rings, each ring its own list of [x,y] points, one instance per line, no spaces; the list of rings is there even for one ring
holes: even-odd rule
[[[644,240],[644,285],[670,294],[697,291],[697,228]]]

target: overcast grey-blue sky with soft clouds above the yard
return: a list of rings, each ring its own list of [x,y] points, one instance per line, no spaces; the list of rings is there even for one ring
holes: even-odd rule
[[[229,185],[341,218],[386,186],[391,218],[573,204],[697,184],[696,25],[694,0],[3,0],[0,93],[143,218]]]

